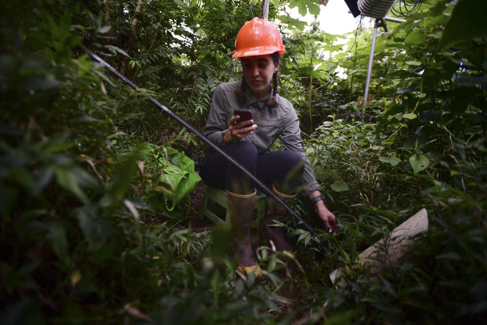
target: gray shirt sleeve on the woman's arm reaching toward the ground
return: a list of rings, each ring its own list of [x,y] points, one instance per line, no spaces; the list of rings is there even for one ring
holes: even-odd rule
[[[299,119],[294,108],[290,110],[285,126],[280,135],[281,144],[286,150],[292,150],[303,158],[304,160],[304,174],[303,184],[306,185],[306,193],[319,190],[321,186],[318,184],[315,172],[311,166],[309,159],[303,149],[303,140],[301,139],[301,130],[299,129]]]

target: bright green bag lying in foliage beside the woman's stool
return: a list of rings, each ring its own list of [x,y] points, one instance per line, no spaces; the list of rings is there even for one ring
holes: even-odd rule
[[[164,148],[152,146],[148,143],[147,153],[153,154],[155,161],[148,155],[145,155],[145,160],[150,166],[160,169],[158,185],[168,190],[165,205],[172,211],[176,204],[188,197],[201,178],[194,171],[194,161],[183,153],[169,147],[164,151]]]

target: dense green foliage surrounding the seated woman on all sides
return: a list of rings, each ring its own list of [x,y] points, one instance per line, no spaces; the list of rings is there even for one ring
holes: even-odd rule
[[[366,106],[356,100],[370,31],[340,52],[336,35],[305,29],[281,11],[284,2],[270,3],[269,18],[288,30],[281,94],[300,116],[327,206],[342,226],[325,254],[289,221],[294,257],[260,248],[266,280],[235,276],[225,229],[193,231],[183,205],[169,211],[165,204],[176,184],[163,177],[172,163],[161,157],[169,158],[169,147],[192,157],[197,139],[82,49],[202,129],[216,85],[240,78],[233,42],[260,2],[7,2],[0,13],[0,322],[485,319],[485,3],[433,1],[390,24],[377,39]],[[316,13],[317,3],[292,6]],[[306,200],[294,205],[321,227]],[[354,265],[360,251],[422,207],[430,228],[404,261],[378,278],[362,270],[345,275],[344,287],[331,283],[331,271]]]

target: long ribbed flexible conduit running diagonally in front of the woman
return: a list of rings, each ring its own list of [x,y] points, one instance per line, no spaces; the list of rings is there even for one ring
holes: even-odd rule
[[[96,55],[95,53],[91,52],[88,48],[84,47],[85,48],[85,51],[88,53],[89,56],[91,56],[95,61],[97,61],[98,63],[106,66],[110,71],[112,71],[119,79],[123,80],[126,84],[128,84],[130,87],[132,87],[133,89],[138,89],[138,90],[141,90],[142,88],[137,86],[133,81],[131,81],[130,79],[128,79],[127,77],[125,77],[122,73],[120,73],[120,71],[118,71],[117,69],[115,69],[113,66],[111,66],[109,63],[107,63],[105,60],[103,60],[102,58],[100,58],[98,55]],[[144,90],[141,90],[142,92],[145,92]],[[167,114],[168,116],[170,116],[171,118],[175,119],[176,121],[178,121],[181,125],[183,125],[186,129],[188,129],[189,131],[193,132],[194,134],[196,134],[201,140],[203,140],[208,146],[210,146],[212,149],[214,149],[216,152],[218,152],[220,155],[222,155],[223,157],[225,157],[226,160],[228,160],[231,164],[233,164],[235,167],[237,167],[238,169],[240,169],[243,173],[245,173],[250,179],[252,179],[255,184],[257,184],[257,186],[262,190],[264,191],[267,195],[271,196],[272,198],[274,198],[277,202],[279,202],[279,204],[281,204],[285,209],[286,211],[288,211],[295,219],[297,219],[298,221],[300,221],[304,227],[312,234],[315,236],[315,240],[320,244],[320,247],[322,249],[324,249],[324,245],[323,243],[321,242],[321,240],[318,238],[318,234],[316,233],[316,231],[314,229],[311,228],[311,226],[309,226],[302,218],[301,216],[296,212],[294,211],[284,200],[282,200],[277,194],[274,193],[274,191],[272,191],[268,186],[266,186],[262,180],[260,180],[259,178],[257,178],[254,174],[252,174],[252,172],[250,172],[247,168],[243,167],[238,161],[236,161],[235,159],[233,159],[231,156],[229,156],[226,152],[224,152],[220,147],[218,147],[217,145],[215,145],[215,143],[208,139],[206,136],[204,136],[201,132],[199,132],[195,127],[193,127],[191,124],[189,124],[188,122],[186,122],[185,120],[183,120],[181,117],[179,117],[176,113],[172,112],[171,110],[169,110],[166,106],[164,106],[160,101],[158,101],[156,98],[152,97],[152,96],[148,96],[149,99],[154,103],[156,104],[156,106],[159,108],[159,110],[162,112],[162,113],[165,113]]]

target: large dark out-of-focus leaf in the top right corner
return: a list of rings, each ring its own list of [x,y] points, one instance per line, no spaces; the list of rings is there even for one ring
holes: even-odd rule
[[[462,0],[453,9],[438,44],[438,50],[487,34],[485,0]]]

